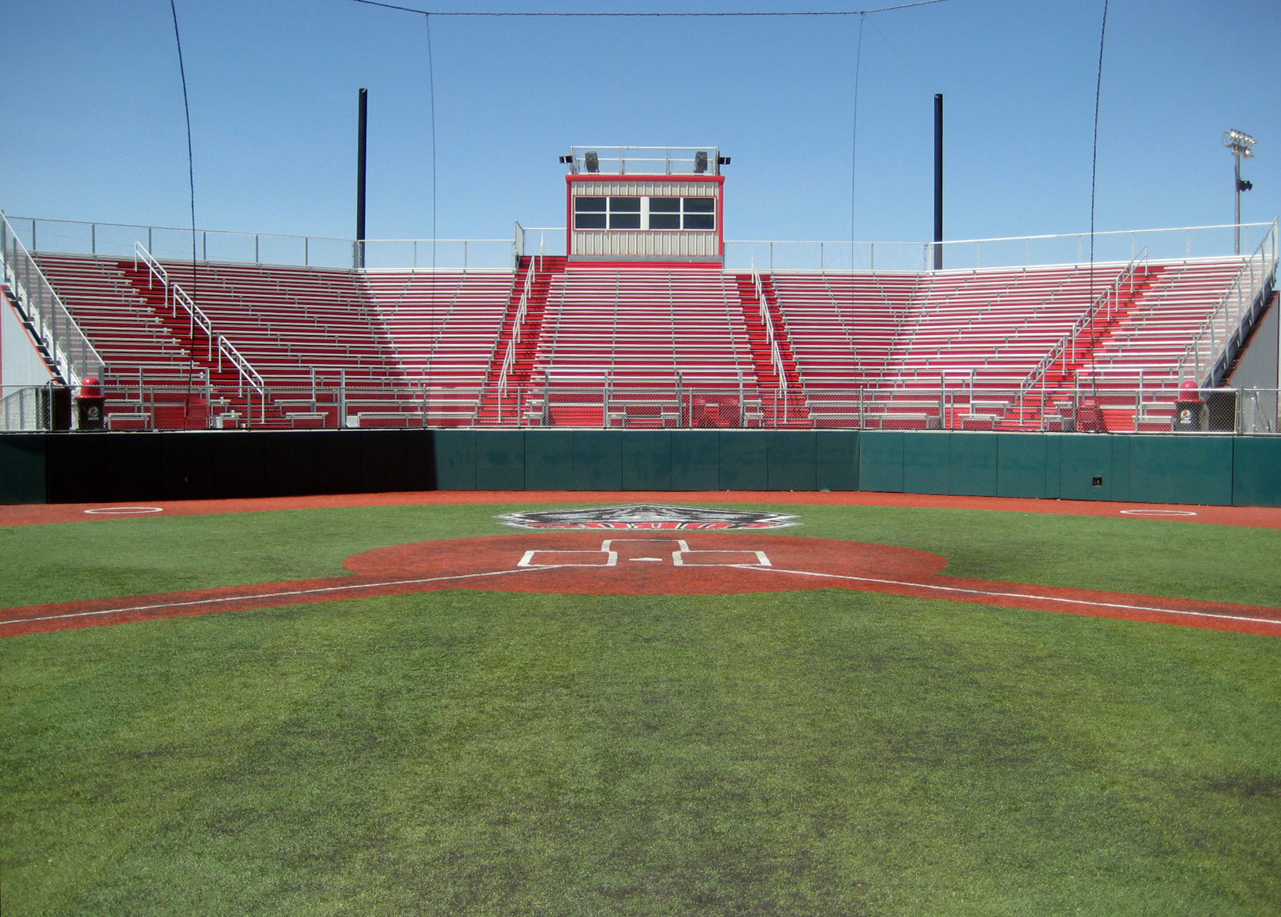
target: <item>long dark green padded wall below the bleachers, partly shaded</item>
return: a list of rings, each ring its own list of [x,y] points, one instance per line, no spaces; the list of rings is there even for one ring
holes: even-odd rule
[[[0,503],[432,489],[885,491],[1281,506],[1281,438],[889,430],[0,435]]]

